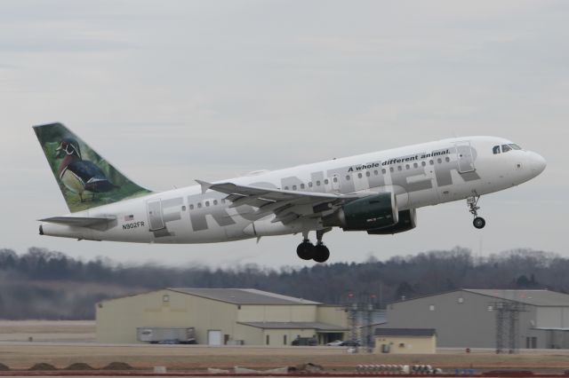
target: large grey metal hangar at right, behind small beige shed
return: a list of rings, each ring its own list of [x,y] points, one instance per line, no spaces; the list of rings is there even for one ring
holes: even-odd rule
[[[454,290],[389,303],[387,323],[378,328],[433,328],[437,347],[495,348],[511,324],[518,348],[567,349],[569,295],[549,290]]]

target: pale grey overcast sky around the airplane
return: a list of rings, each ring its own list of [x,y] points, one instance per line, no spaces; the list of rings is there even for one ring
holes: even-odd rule
[[[67,212],[31,130],[63,122],[155,190],[439,138],[494,135],[540,177],[419,209],[396,236],[335,230],[330,262],[462,246],[569,256],[569,2],[0,3],[0,248],[160,264],[301,265],[299,235],[137,245],[37,235]],[[312,263],[309,263],[311,265]]]

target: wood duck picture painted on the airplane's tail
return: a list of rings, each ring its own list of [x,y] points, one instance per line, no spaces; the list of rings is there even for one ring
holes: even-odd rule
[[[95,193],[116,189],[117,186],[108,180],[95,163],[81,158],[79,144],[74,138],[63,138],[56,151],[57,156],[63,158],[58,169],[58,177],[71,192],[79,195],[82,202],[84,192],[92,193],[94,200]]]

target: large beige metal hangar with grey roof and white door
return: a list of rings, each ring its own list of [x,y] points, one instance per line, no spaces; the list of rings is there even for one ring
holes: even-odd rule
[[[105,300],[97,303],[96,327],[99,343],[175,338],[210,345],[282,346],[325,344],[344,340],[349,332],[342,307],[244,288],[165,288]],[[180,339],[180,331],[188,340]]]

